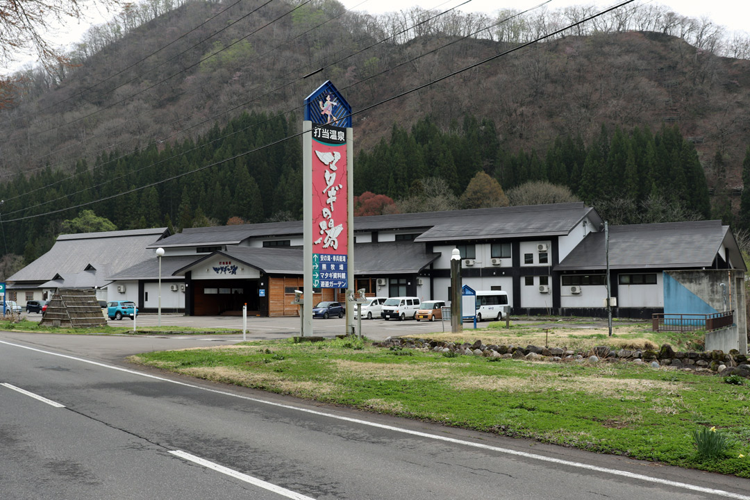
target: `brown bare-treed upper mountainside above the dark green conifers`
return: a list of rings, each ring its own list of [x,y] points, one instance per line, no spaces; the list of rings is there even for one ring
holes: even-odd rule
[[[17,106],[0,111],[0,171],[49,166],[73,172],[115,152],[164,151],[170,144],[184,149],[186,139],[208,136],[242,112],[283,114],[290,127],[285,133],[294,133],[302,100],[331,79],[355,112],[369,108],[353,118],[358,152],[389,139],[394,124],[408,130],[427,116],[445,133],[459,130],[465,115],[490,118],[497,145],[508,154],[543,154],[559,136],[589,145],[602,125],[656,131],[667,124],[694,143],[710,188],[742,184],[740,164],[750,145],[750,61],[715,55],[731,47],[720,51],[720,33],[694,19],[677,16],[659,25],[654,19],[667,17],[648,10],[658,7],[623,10],[620,17],[370,108],[553,31],[586,10],[533,11],[506,22],[499,21],[511,12],[497,19],[449,13],[425,21],[434,13],[375,18],[346,12],[334,0],[296,10],[299,4],[283,1],[263,7],[243,2],[221,13],[227,5],[188,1],[175,10],[156,9],[152,18],[131,13],[78,47],[73,56],[79,66],[57,74],[26,72]],[[645,28],[653,31],[628,31]],[[655,31],[685,33],[693,45]],[[738,47],[733,53],[744,55]],[[264,143],[263,136],[255,140],[246,147]],[[714,172],[717,151],[725,178]]]

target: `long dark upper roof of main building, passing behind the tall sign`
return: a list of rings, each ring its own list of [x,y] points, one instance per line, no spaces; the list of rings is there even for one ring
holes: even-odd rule
[[[475,208],[421,212],[417,214],[373,215],[354,217],[355,232],[386,229],[414,229],[421,233],[416,241],[457,241],[488,238],[516,238],[566,235],[588,216],[598,226],[601,218],[583,202],[529,205],[519,207]],[[243,224],[184,229],[169,236],[157,247],[191,247],[236,245],[248,238],[302,236],[302,220],[290,222]]]

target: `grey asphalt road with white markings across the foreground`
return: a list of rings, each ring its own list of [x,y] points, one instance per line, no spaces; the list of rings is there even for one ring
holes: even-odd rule
[[[745,479],[352,412],[121,361],[163,346],[233,341],[0,332],[0,498],[750,500]]]

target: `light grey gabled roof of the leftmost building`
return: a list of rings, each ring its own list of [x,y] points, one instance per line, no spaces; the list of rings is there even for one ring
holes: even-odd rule
[[[13,274],[7,281],[15,282],[13,286],[17,287],[20,286],[19,282],[52,280],[55,274],[68,279],[68,275],[81,273],[89,265],[97,269],[97,274],[102,271],[104,274],[118,272],[153,256],[153,250],[146,248],[148,244],[168,234],[166,227],[160,227],[60,235],[49,252]],[[101,262],[101,259],[107,259],[107,265],[92,264]]]

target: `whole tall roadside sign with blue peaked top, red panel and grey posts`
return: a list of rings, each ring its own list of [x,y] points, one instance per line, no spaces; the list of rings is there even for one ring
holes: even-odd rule
[[[352,108],[330,82],[305,99],[305,306],[302,334],[313,333],[313,289],[353,289]],[[347,333],[353,307],[347,301]]]

